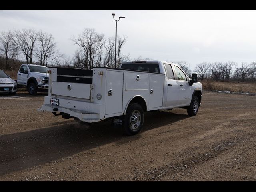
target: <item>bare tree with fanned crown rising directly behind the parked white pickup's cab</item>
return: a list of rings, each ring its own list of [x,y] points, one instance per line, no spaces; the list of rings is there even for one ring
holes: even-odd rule
[[[34,29],[23,29],[22,31],[14,30],[12,40],[20,50],[21,54],[26,56],[27,63],[32,64],[35,42],[38,32]]]

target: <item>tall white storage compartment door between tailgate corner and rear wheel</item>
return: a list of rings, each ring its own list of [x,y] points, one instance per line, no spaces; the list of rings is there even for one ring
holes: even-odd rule
[[[123,76],[124,72],[107,71],[106,115],[122,112]]]

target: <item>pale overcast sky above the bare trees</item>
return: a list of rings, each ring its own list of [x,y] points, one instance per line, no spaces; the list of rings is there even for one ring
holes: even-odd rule
[[[255,11],[0,11],[0,31],[34,28],[52,33],[66,56],[77,49],[70,38],[84,28],[127,36],[122,53],[154,60],[256,61]]]

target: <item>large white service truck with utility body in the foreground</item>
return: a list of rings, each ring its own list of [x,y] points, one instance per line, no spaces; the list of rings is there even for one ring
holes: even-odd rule
[[[195,116],[202,84],[176,64],[164,61],[123,62],[120,68],[49,69],[49,95],[38,111],[87,124],[112,118],[128,135],[138,133],[144,112],[186,108]]]

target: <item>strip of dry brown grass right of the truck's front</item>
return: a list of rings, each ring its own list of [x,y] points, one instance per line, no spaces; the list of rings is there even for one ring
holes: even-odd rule
[[[203,90],[225,90],[232,92],[250,92],[256,93],[256,83],[251,82],[216,82],[210,80],[200,81]]]

